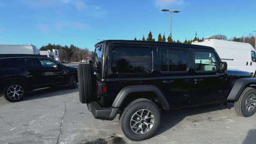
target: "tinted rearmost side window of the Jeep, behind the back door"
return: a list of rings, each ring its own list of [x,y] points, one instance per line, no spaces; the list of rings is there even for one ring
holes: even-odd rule
[[[114,48],[112,71],[115,73],[150,73],[152,50],[150,48]]]

